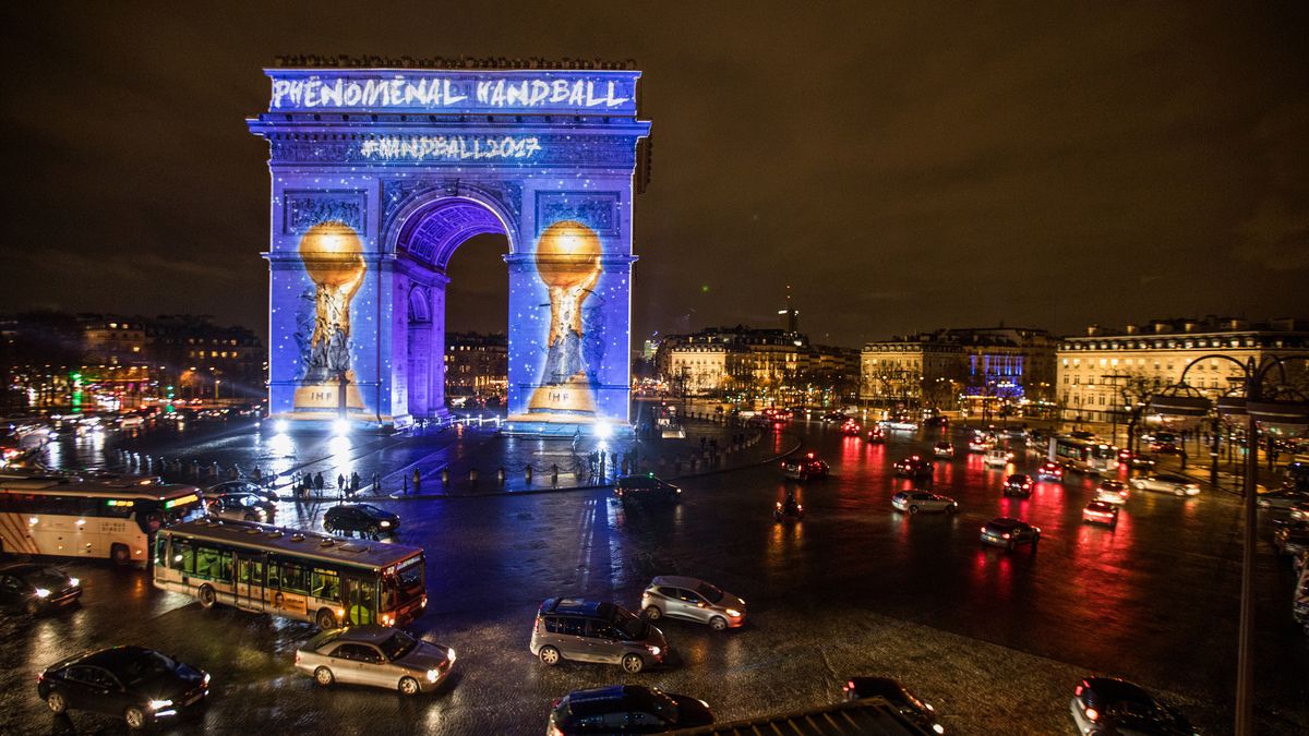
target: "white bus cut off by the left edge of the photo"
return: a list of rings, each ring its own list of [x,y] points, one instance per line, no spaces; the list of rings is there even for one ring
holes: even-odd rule
[[[200,490],[154,477],[0,477],[0,551],[145,563],[165,524],[199,516]]]

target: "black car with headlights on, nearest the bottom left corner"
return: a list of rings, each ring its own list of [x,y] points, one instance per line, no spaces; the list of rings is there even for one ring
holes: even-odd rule
[[[89,710],[145,728],[203,703],[209,676],[154,650],[111,647],[47,668],[37,693],[51,712]]]

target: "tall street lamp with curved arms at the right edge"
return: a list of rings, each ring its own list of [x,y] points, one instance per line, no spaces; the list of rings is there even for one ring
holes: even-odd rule
[[[1292,355],[1285,358],[1266,358],[1263,363],[1255,363],[1251,356],[1245,363],[1221,354],[1202,355],[1192,360],[1178,380],[1177,386],[1156,394],[1151,399],[1151,409],[1165,416],[1182,418],[1198,423],[1208,414],[1212,406],[1210,399],[1186,384],[1186,373],[1206,359],[1219,359],[1236,363],[1241,368],[1241,378],[1245,382],[1245,401],[1238,402],[1234,397],[1227,401],[1220,399],[1220,411],[1232,416],[1245,414],[1245,483],[1242,494],[1245,496],[1245,540],[1241,555],[1241,622],[1237,633],[1237,676],[1236,676],[1236,733],[1237,736],[1254,735],[1254,667],[1251,652],[1251,634],[1254,631],[1254,547],[1255,523],[1258,511],[1255,506],[1257,483],[1255,475],[1259,470],[1258,460],[1258,423],[1293,426],[1297,428],[1309,427],[1309,402],[1285,401],[1263,394],[1263,380],[1266,373],[1278,367],[1282,375],[1282,384],[1285,385],[1287,360],[1309,360],[1306,355]],[[1244,406],[1241,406],[1244,403]]]

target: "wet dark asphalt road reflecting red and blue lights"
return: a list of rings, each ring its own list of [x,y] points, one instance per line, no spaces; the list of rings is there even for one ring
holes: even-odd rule
[[[937,464],[933,482],[961,512],[910,517],[890,508],[910,486],[890,462],[928,451],[933,433],[868,445],[821,424],[798,428],[833,465],[830,479],[800,487],[808,516],[798,524],[770,516],[787,483],[776,466],[686,481],[673,508],[624,509],[602,491],[384,504],[404,519],[401,540],[427,550],[431,604],[411,629],[459,652],[456,674],[428,697],[318,689],[291,667],[314,633],[308,625],[206,612],[154,591],[143,571],[68,564],[85,581],[79,609],[0,626],[9,663],[0,732],[123,731],[94,715],[56,719],[35,695],[46,664],[115,643],[174,652],[213,674],[209,705],[179,732],[541,733],[554,698],[615,682],[691,694],[730,719],[825,705],[847,676],[889,674],[932,702],[952,732],[1073,733],[1068,698],[1090,672],[1156,690],[1206,733],[1230,731],[1240,499],[1139,491],[1117,529],[1088,526],[1081,507],[1093,481],[1072,475],[1041,483],[1030,500],[1004,499],[1007,470],[961,453]],[[1038,462],[1020,454],[1017,469]],[[322,507],[283,506],[288,525],[321,519]],[[1039,549],[983,549],[979,526],[1000,515],[1039,525]],[[1267,532],[1255,584],[1258,719],[1266,732],[1305,732],[1309,646],[1289,617],[1289,566]],[[528,652],[543,598],[635,606],[657,574],[745,597],[749,625],[713,634],[666,622],[672,665],[635,676],[546,668]]]

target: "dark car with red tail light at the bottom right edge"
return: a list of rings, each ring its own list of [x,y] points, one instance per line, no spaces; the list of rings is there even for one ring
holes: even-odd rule
[[[1140,685],[1117,677],[1085,677],[1068,703],[1084,735],[1155,733],[1191,736],[1195,731],[1175,708],[1157,702]]]

